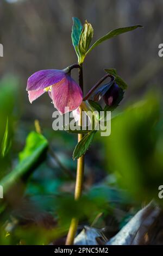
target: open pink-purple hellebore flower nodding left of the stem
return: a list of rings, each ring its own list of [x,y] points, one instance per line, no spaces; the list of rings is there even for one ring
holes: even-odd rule
[[[54,107],[61,114],[74,111],[83,100],[83,93],[79,85],[65,70],[40,70],[28,78],[27,89],[30,103],[48,92]],[[65,108],[68,108],[65,109]]]

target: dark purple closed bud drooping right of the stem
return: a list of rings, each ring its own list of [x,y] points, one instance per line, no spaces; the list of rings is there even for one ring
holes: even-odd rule
[[[104,94],[103,99],[109,107],[118,105],[118,103],[123,99],[123,89],[114,83]]]

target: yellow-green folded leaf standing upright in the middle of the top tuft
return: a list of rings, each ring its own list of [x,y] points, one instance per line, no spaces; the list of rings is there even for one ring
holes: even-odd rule
[[[90,46],[91,40],[93,37],[93,28],[90,23],[85,21],[82,33],[80,34],[80,39],[78,43],[78,52],[79,52],[79,64],[84,62],[86,52]]]

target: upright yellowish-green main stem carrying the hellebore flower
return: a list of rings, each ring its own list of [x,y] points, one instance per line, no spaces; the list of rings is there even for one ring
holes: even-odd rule
[[[80,65],[79,68],[79,86],[83,91],[83,67]],[[82,126],[82,108],[80,108],[80,121],[79,125]],[[83,138],[82,134],[78,134],[78,143]],[[74,199],[79,200],[82,196],[82,188],[83,188],[83,176],[84,176],[84,155],[79,157],[77,162],[77,176],[76,176],[76,187],[74,192]],[[78,218],[74,217],[71,220],[70,228],[68,230],[66,245],[73,245],[74,237],[77,233],[78,228]]]

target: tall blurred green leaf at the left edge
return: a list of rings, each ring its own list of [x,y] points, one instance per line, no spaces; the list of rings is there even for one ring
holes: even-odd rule
[[[0,178],[8,172],[10,147],[18,118],[18,78],[6,75],[0,81]]]

